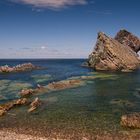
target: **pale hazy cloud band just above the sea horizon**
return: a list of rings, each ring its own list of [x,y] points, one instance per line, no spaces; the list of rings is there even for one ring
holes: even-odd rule
[[[24,48],[0,48],[0,58],[86,58],[89,51],[81,48],[55,49],[48,45]]]

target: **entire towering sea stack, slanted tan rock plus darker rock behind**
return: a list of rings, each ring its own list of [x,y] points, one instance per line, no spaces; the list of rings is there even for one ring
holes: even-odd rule
[[[140,65],[139,50],[140,40],[126,30],[118,32],[115,39],[99,32],[87,65],[96,70],[132,71]]]

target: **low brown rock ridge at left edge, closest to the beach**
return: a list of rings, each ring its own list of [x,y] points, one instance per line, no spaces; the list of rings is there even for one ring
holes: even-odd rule
[[[0,105],[0,116],[3,116],[8,110],[13,108],[14,106],[23,105],[23,104],[26,104],[26,103],[27,103],[27,99],[26,98],[21,98],[21,99],[9,101],[5,104],[1,104]]]

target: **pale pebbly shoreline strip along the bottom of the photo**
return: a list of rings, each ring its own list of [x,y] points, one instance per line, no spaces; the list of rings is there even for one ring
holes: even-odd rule
[[[4,128],[0,129],[0,138],[1,140],[139,140],[140,134],[139,133],[127,133],[127,132],[118,132],[118,133],[109,133],[107,131],[102,132],[95,132],[92,135],[90,134],[80,134],[81,136],[78,137],[69,134],[63,135],[54,132],[54,136],[45,136],[42,134],[37,134],[34,130],[32,130],[32,134],[26,132],[25,130],[16,130],[16,129],[9,129]]]

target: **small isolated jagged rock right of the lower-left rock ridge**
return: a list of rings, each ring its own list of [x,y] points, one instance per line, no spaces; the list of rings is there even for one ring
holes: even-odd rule
[[[33,112],[41,105],[41,101],[39,98],[35,98],[35,100],[30,104],[30,108],[28,109],[28,112]]]

